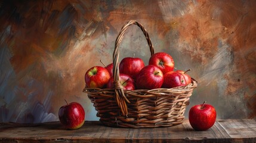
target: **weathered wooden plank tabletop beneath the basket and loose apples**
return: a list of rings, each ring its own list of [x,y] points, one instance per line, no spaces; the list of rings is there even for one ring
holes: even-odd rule
[[[168,128],[112,128],[86,121],[76,130],[60,122],[24,125],[0,123],[0,142],[256,142],[256,121],[218,120],[211,129],[195,131],[188,120]]]

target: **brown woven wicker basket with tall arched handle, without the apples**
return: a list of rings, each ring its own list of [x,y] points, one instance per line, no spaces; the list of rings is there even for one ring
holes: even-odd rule
[[[119,45],[124,38],[128,26],[136,24],[143,31],[149,44],[151,55],[154,54],[153,45],[149,35],[138,21],[131,20],[125,24],[115,42],[113,52],[114,89],[88,88],[88,94],[100,122],[107,126],[124,128],[156,128],[178,125],[183,122],[184,111],[189,105],[189,97],[197,82],[177,88],[140,89],[134,91],[123,90],[119,81]]]

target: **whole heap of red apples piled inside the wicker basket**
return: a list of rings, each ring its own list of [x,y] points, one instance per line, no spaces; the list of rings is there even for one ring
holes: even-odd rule
[[[124,90],[174,88],[192,82],[186,71],[174,71],[174,60],[166,52],[153,54],[147,66],[141,58],[126,57],[119,64],[119,73]],[[88,88],[113,89],[113,80],[113,63],[91,67],[85,73]]]

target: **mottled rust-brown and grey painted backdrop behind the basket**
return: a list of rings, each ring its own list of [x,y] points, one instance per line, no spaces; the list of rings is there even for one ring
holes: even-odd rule
[[[112,63],[116,36],[128,20],[149,32],[155,52],[192,69],[198,88],[190,105],[207,101],[218,119],[256,119],[256,1],[0,1],[0,122],[58,120],[58,109],[80,102],[98,120],[82,89],[92,66]],[[121,57],[149,48],[130,26]]]

